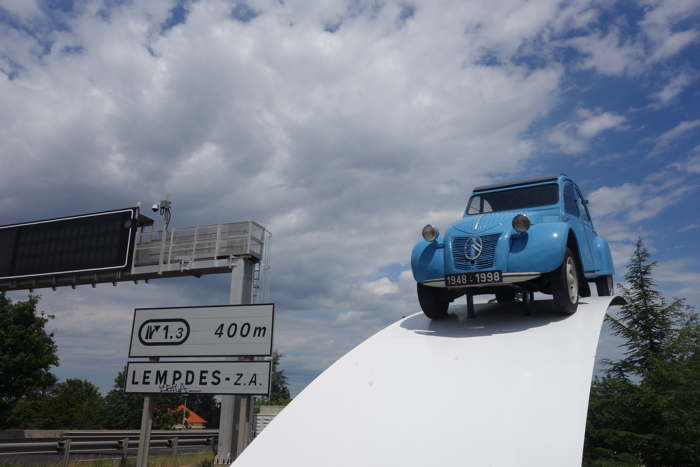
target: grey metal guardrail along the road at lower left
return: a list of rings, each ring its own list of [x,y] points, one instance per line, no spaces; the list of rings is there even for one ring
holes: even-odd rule
[[[76,455],[111,454],[126,460],[129,455],[135,455],[139,447],[138,430],[64,431],[55,438],[33,437],[30,431],[24,432],[28,437],[0,439],[0,459],[53,455],[62,458],[63,465],[67,466],[71,456]],[[41,435],[40,432],[35,434]],[[150,447],[169,450],[172,454],[177,454],[178,449],[197,446],[216,450],[218,435],[219,430],[155,430],[151,433]]]

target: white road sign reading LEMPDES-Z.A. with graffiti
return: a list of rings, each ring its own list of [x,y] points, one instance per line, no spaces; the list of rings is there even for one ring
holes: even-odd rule
[[[125,392],[265,396],[270,392],[270,361],[129,362]]]

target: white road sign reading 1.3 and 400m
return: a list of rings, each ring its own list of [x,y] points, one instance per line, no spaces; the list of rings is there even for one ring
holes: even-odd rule
[[[274,304],[137,308],[129,357],[272,355]]]

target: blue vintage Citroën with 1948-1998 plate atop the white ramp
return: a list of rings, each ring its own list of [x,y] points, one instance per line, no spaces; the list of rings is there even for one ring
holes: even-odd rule
[[[588,201],[566,175],[481,186],[464,216],[440,235],[423,227],[411,267],[423,312],[437,320],[449,303],[495,294],[498,302],[526,304],[534,292],[553,295],[572,314],[579,297],[613,292],[608,243],[593,227]]]

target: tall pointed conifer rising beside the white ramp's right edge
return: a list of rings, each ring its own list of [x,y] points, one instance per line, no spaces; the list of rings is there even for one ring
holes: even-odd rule
[[[613,332],[625,341],[625,358],[611,365],[610,371],[620,376],[642,376],[651,369],[652,362],[664,358],[674,324],[684,316],[684,302],[675,299],[667,303],[655,289],[652,272],[656,262],[650,262],[649,251],[641,237],[627,265],[626,285],[621,285],[626,304],[617,318],[608,315]]]

